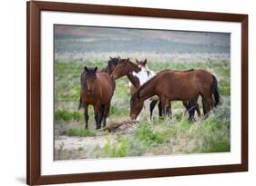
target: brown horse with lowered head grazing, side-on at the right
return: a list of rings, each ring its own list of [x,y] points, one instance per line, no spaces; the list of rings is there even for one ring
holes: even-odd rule
[[[199,96],[202,97],[204,114],[209,113],[210,109],[220,102],[218,83],[211,73],[204,70],[192,70],[187,73],[165,70],[140,86],[131,97],[131,119],[137,118],[144,101],[153,95],[159,96],[162,112],[165,115],[170,113],[171,101],[187,102],[189,100],[189,119],[192,119],[195,113],[195,103]]]

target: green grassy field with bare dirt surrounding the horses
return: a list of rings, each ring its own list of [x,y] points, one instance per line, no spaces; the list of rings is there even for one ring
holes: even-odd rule
[[[107,61],[108,59],[106,59]],[[230,63],[157,62],[148,59],[148,67],[163,69],[205,69],[216,75],[220,88],[220,105],[208,118],[197,117],[189,123],[181,102],[173,102],[173,116],[159,120],[157,109],[153,120],[142,110],[140,122],[120,132],[96,132],[94,113],[89,108],[89,130],[84,129],[83,109],[77,111],[79,76],[85,65],[99,69],[106,61],[55,62],[55,160],[109,158],[140,155],[168,155],[200,152],[230,152]],[[107,124],[129,120],[128,79],[117,80]],[[201,103],[200,103],[201,108]],[[201,109],[202,113],[202,109]]]

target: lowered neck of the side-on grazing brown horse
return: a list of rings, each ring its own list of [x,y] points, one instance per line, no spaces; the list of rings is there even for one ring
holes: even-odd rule
[[[156,95],[156,90],[155,90],[156,84],[157,84],[156,80],[153,80],[150,83],[144,84],[144,86],[138,92],[139,99],[144,102],[149,97]]]

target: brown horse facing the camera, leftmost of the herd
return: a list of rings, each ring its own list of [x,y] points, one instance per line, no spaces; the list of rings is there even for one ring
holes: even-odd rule
[[[84,107],[86,129],[88,128],[88,105],[94,106],[96,129],[100,129],[101,122],[106,125],[111,98],[116,84],[108,73],[97,73],[97,67],[87,68],[80,76],[80,98]]]

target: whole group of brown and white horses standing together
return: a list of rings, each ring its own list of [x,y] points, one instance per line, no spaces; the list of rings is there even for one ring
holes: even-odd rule
[[[171,102],[181,101],[189,113],[189,121],[194,120],[195,111],[200,116],[199,97],[201,96],[204,115],[220,103],[216,77],[205,70],[187,71],[163,70],[154,73],[149,70],[147,59],[133,63],[120,57],[108,60],[101,71],[87,68],[80,75],[80,99],[78,109],[84,108],[88,127],[88,105],[93,105],[96,129],[106,126],[112,96],[118,78],[127,76],[131,93],[130,118],[137,120],[144,102],[149,103],[150,119],[157,103],[159,117],[171,115]]]

